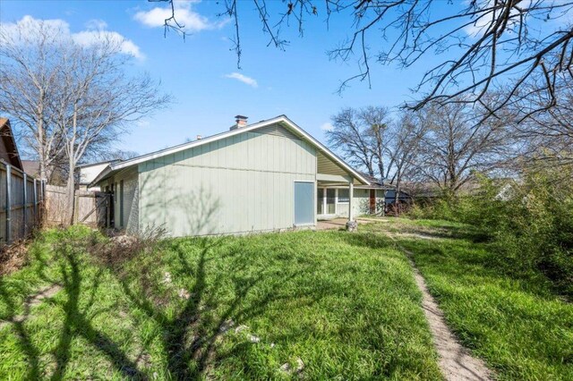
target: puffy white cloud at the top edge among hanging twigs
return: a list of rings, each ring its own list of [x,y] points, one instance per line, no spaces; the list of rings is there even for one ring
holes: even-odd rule
[[[195,1],[175,1],[175,20],[182,26],[184,31],[198,32],[201,30],[213,30],[223,27],[228,20],[212,22],[207,17],[193,11],[192,4]],[[155,7],[150,11],[140,11],[133,15],[133,19],[140,21],[150,28],[163,27],[165,21],[172,16],[170,6]],[[173,22],[172,22],[173,23]]]

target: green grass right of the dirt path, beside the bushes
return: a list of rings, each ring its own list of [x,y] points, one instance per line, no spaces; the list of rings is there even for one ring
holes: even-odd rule
[[[397,219],[363,230],[405,233],[396,239],[413,253],[449,326],[499,379],[573,380],[573,305],[543,277],[501,271],[493,247],[464,224]]]

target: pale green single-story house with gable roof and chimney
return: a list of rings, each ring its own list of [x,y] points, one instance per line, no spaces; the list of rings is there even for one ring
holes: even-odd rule
[[[107,165],[90,184],[114,195],[114,224],[129,233],[268,232],[362,214],[383,190],[285,115]],[[377,193],[380,192],[380,193]],[[355,197],[353,194],[355,193]]]

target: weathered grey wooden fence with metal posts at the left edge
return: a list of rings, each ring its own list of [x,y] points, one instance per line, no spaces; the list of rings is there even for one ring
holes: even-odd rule
[[[45,183],[0,161],[0,244],[28,236],[41,222]]]

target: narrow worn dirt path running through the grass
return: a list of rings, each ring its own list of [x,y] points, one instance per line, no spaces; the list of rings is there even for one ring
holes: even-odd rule
[[[391,236],[390,236],[391,237]],[[393,239],[393,237],[391,237]],[[415,283],[422,292],[423,314],[428,320],[432,331],[433,343],[440,355],[441,373],[449,381],[472,380],[485,381],[492,379],[492,371],[488,369],[482,360],[476,359],[471,353],[458,342],[456,336],[446,325],[444,314],[438,303],[433,299],[423,276],[415,267],[412,253],[401,246],[414,270]]]

